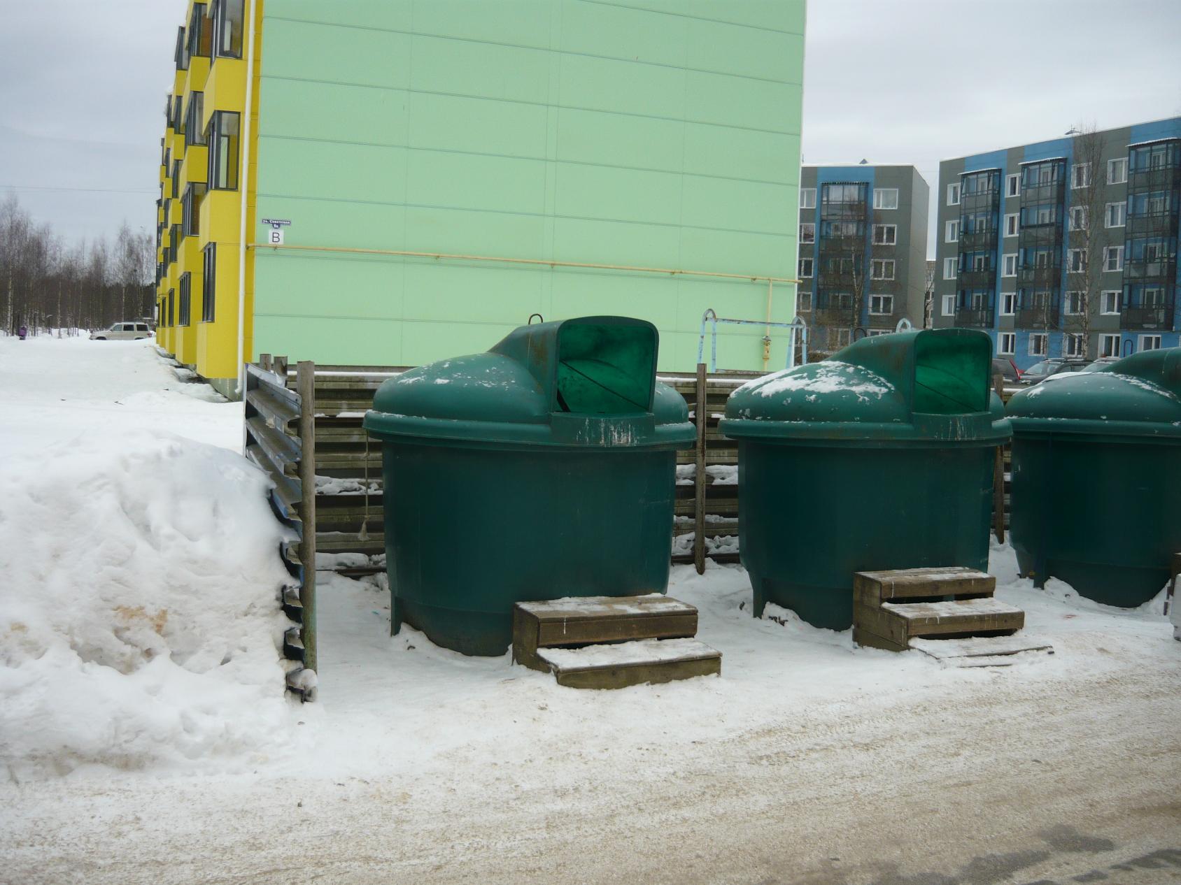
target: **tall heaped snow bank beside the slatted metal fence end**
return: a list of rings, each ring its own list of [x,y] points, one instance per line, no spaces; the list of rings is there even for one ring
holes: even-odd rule
[[[79,425],[85,428],[85,421]],[[0,759],[11,772],[270,754],[294,725],[267,480],[149,430],[0,466]]]

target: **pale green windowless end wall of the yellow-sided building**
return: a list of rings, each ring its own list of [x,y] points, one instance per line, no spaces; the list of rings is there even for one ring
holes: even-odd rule
[[[803,31],[804,0],[266,0],[256,217],[288,245],[794,277]],[[254,350],[418,365],[624,314],[691,369],[703,312],[762,320],[766,289],[260,249]],[[772,303],[791,320],[794,287]],[[730,327],[719,366],[761,368],[762,335]]]

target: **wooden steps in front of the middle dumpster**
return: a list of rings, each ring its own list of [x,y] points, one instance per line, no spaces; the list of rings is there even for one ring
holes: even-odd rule
[[[976,660],[971,666],[1049,648],[1036,642],[992,642],[1025,627],[1025,612],[994,599],[996,589],[994,577],[963,566],[857,572],[853,579],[853,641],[888,651],[921,647],[939,660]],[[947,644],[958,641],[960,644]],[[934,654],[934,645],[942,647],[939,654]],[[984,650],[988,648],[992,650]]]

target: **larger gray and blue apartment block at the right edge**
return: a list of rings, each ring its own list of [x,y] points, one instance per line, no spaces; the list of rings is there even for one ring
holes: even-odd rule
[[[1179,343],[1181,118],[939,164],[933,322],[1019,368]]]

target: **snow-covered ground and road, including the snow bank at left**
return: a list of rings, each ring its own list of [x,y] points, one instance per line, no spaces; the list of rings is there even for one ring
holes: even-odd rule
[[[857,650],[752,620],[738,566],[676,568],[723,675],[620,691],[390,638],[380,579],[321,573],[321,700],[292,703],[265,678],[275,575],[247,550],[278,536],[223,525],[257,481],[216,399],[142,343],[0,339],[2,883],[1181,878],[1181,643],[1159,604],[1033,590],[1007,548],[997,595],[1052,656]],[[257,604],[227,638],[202,595]],[[118,629],[112,602],[150,631]],[[97,622],[131,651],[81,642]],[[218,642],[237,662],[202,660]]]

